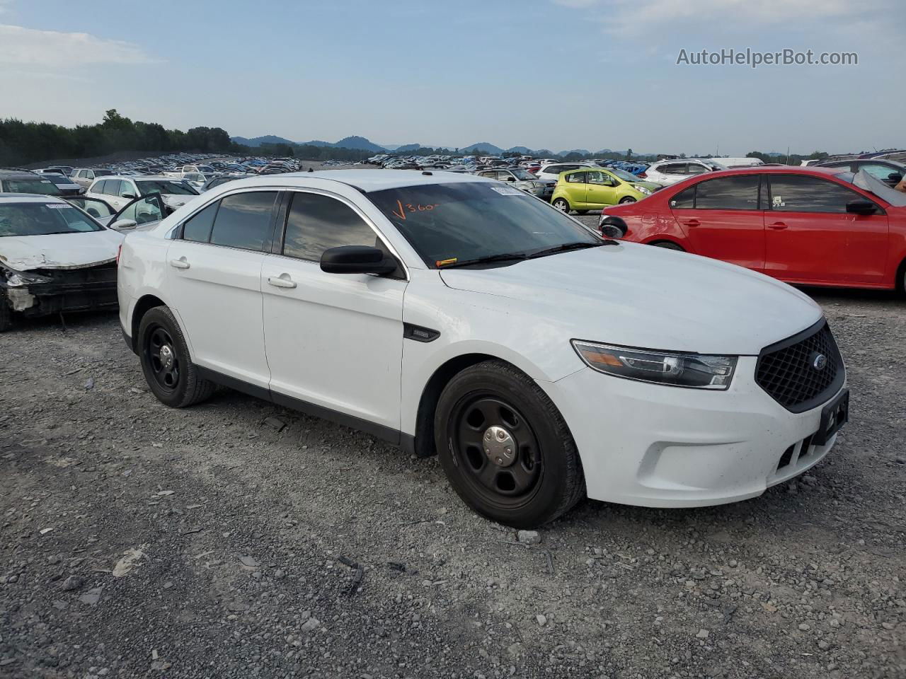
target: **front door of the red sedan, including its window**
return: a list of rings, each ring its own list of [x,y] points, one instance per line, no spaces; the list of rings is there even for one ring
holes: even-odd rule
[[[870,198],[824,177],[771,175],[765,273],[789,282],[882,283],[887,215],[880,205],[874,215],[848,213],[853,200]]]

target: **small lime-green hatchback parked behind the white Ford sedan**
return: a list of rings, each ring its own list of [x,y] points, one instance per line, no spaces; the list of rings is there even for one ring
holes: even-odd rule
[[[660,187],[616,167],[582,167],[560,175],[551,204],[558,210],[575,210],[583,215],[618,203],[635,203]]]

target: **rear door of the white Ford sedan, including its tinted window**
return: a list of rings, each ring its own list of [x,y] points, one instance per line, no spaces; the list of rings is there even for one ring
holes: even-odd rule
[[[267,389],[261,267],[276,191],[229,194],[192,215],[169,246],[169,303],[199,366]]]

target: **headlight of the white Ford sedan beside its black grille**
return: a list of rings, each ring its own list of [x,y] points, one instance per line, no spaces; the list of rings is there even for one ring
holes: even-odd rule
[[[573,349],[589,368],[598,372],[638,382],[697,389],[727,389],[738,358],[631,349],[580,339],[573,339]]]

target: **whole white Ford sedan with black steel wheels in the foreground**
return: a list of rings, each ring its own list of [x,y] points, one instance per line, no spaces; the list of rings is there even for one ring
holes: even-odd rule
[[[437,453],[513,526],[586,495],[754,497],[847,419],[843,359],[801,292],[602,239],[481,177],[238,180],[128,234],[119,262],[123,333],[163,403],[225,385]]]

